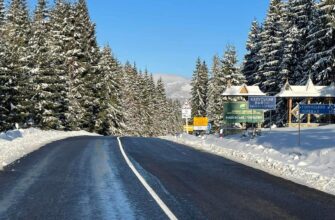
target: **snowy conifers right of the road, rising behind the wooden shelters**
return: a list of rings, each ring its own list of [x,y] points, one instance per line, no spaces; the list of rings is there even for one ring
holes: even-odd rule
[[[225,101],[221,94],[228,82],[258,85],[275,95],[287,80],[304,85],[309,76],[318,85],[335,81],[335,0],[271,0],[265,21],[252,23],[241,67],[231,46],[223,58],[214,56],[211,71],[197,61],[193,114],[207,115],[218,128]],[[285,100],[278,100],[277,109],[275,121],[283,125],[287,120]]]

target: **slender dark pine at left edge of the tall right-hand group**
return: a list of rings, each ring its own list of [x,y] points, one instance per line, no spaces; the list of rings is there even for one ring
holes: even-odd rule
[[[259,51],[261,49],[261,34],[262,27],[257,20],[254,20],[251,25],[249,37],[247,41],[247,54],[244,57],[242,73],[246,78],[248,85],[257,83],[257,75],[260,64]]]

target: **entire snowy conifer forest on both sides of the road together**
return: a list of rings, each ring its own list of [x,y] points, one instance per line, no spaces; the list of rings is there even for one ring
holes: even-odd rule
[[[119,62],[96,39],[85,0],[0,0],[0,130],[36,127],[104,135],[159,136],[182,130],[181,104],[148,70]],[[211,66],[196,61],[192,116],[222,124],[221,96],[231,85],[257,85],[269,95],[286,81],[335,80],[335,0],[271,0],[253,21],[239,62],[233,45]],[[277,125],[287,120],[278,99]],[[265,122],[267,123],[267,121]]]

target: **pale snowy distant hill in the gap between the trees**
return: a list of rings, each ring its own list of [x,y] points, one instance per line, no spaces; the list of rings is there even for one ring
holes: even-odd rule
[[[165,83],[166,94],[168,98],[185,101],[191,97],[191,80],[172,74],[154,74],[154,79],[157,81],[162,78]]]

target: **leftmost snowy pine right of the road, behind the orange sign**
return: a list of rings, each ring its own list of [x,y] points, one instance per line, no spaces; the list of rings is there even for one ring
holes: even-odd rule
[[[207,90],[208,90],[208,68],[205,62],[200,58],[196,61],[196,69],[192,77],[192,115],[206,116],[207,110]]]

